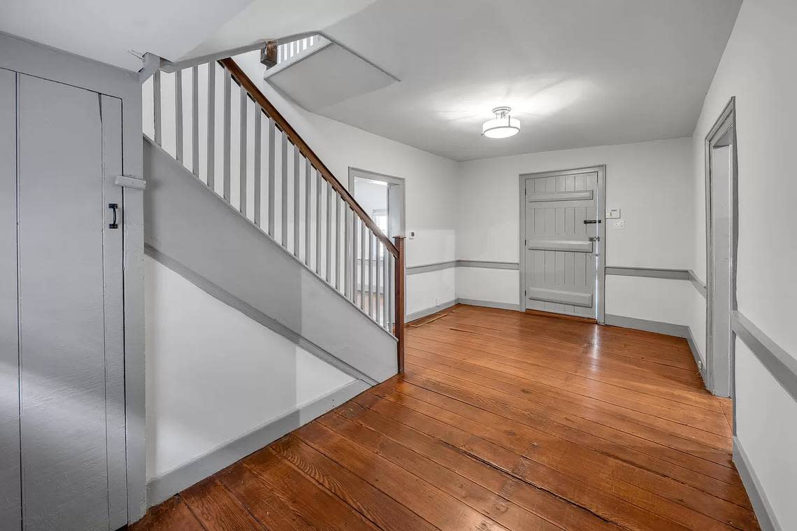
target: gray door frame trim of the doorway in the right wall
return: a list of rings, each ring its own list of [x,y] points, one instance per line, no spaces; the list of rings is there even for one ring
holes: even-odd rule
[[[719,364],[724,364],[724,356],[716,356],[714,352],[713,321],[714,321],[714,223],[713,223],[713,157],[712,150],[721,147],[718,144],[724,136],[730,132],[731,140],[731,168],[728,172],[728,190],[730,199],[728,203],[730,220],[730,242],[731,248],[728,250],[728,260],[730,265],[728,286],[730,293],[731,311],[738,308],[736,301],[736,257],[739,247],[739,163],[738,163],[738,144],[736,144],[736,96],[732,96],[725,104],[720,116],[714,122],[709,133],[705,136],[705,261],[706,261],[706,297],[705,297],[705,376],[706,387],[715,395],[728,395],[734,399],[733,408],[733,433],[736,433],[736,333],[730,330],[730,341],[728,344],[728,384],[716,381],[716,373]]]

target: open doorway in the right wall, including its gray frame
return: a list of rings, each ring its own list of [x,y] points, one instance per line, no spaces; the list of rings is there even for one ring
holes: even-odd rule
[[[736,101],[725,106],[705,140],[706,385],[734,395],[736,309]]]

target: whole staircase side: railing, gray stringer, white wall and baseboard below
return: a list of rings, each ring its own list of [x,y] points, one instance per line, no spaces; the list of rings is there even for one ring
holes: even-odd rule
[[[402,246],[229,70],[218,81],[201,138],[194,83],[171,116],[156,100],[143,142],[150,505],[398,370]]]

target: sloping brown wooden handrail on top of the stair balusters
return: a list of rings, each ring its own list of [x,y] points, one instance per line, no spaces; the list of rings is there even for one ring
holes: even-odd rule
[[[230,76],[236,81],[236,83],[238,83],[238,85],[241,85],[241,88],[243,88],[246,92],[249,92],[249,96],[252,97],[255,103],[260,105],[261,108],[265,111],[265,113],[272,120],[274,120],[274,123],[277,124],[277,127],[280,128],[281,131],[285,133],[285,136],[288,136],[288,140],[290,140],[293,145],[299,148],[299,152],[302,155],[304,155],[304,157],[306,157],[310,161],[310,163],[312,163],[312,166],[315,167],[316,170],[318,170],[321,177],[325,181],[327,181],[330,184],[330,186],[332,186],[332,188],[340,195],[340,197],[344,199],[346,203],[348,203],[349,207],[351,207],[351,210],[355,211],[357,216],[363,220],[363,223],[365,223],[365,225],[369,229],[371,229],[371,232],[374,233],[376,238],[378,238],[379,241],[384,244],[385,248],[398,260],[400,253],[396,248],[396,246],[393,244],[393,242],[391,242],[390,238],[387,238],[387,236],[382,232],[382,230],[374,222],[374,220],[371,219],[371,216],[366,214],[365,210],[363,210],[363,207],[359,206],[359,203],[357,203],[354,197],[351,196],[351,194],[349,193],[349,191],[347,191],[344,185],[341,184],[340,181],[335,178],[335,175],[332,175],[332,171],[329,171],[329,168],[326,167],[323,162],[321,162],[321,159],[318,157],[318,155],[316,155],[316,152],[312,151],[310,146],[308,146],[308,144],[304,140],[302,140],[302,137],[299,136],[299,133],[296,132],[296,129],[291,127],[291,124],[288,123],[288,120],[285,120],[285,116],[282,116],[280,112],[277,111],[277,108],[274,107],[273,104],[271,104],[271,102],[268,100],[268,98],[265,97],[265,94],[263,94],[263,92],[260,91],[260,88],[257,88],[257,85],[255,85],[252,82],[252,80],[249,79],[249,76],[247,76],[244,73],[244,71],[241,70],[241,67],[238,66],[238,63],[236,63],[231,57],[228,57],[226,59],[221,59],[218,61],[218,63],[219,65],[222,65],[222,67],[224,67],[230,72]],[[402,285],[403,285],[403,274],[402,274]],[[403,297],[402,297],[402,305],[403,305]],[[398,313],[396,314],[396,319],[398,320]],[[403,314],[402,314],[402,325],[403,325]]]

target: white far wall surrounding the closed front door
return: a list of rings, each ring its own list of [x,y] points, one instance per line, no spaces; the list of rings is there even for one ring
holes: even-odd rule
[[[461,163],[457,189],[457,259],[518,262],[518,179],[522,173],[606,164],[607,209],[619,208],[623,230],[607,224],[607,266],[686,269],[693,263],[692,147],[689,138],[546,151]],[[459,270],[461,269],[461,270]],[[457,268],[457,297],[519,304],[519,273]],[[606,312],[687,324],[686,281],[607,277]],[[659,297],[668,296],[667,305]]]

